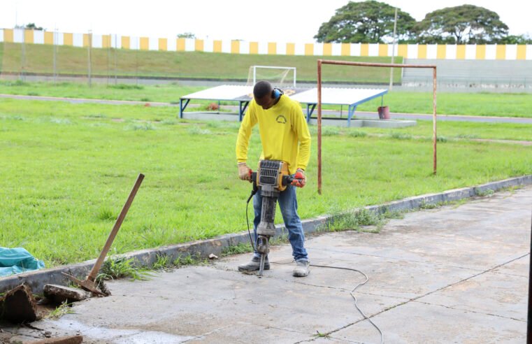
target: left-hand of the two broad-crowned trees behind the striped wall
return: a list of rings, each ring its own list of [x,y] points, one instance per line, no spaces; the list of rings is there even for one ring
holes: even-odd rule
[[[318,42],[387,43],[393,40],[395,8],[387,3],[368,0],[350,1],[338,8],[329,22],[319,27],[314,38]],[[399,41],[411,37],[415,20],[402,10],[397,11]]]

